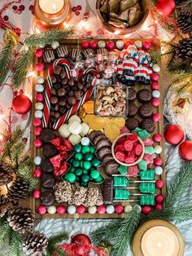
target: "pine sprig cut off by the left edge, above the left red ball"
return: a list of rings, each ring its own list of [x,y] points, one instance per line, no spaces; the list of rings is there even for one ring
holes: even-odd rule
[[[7,43],[6,46],[2,48],[0,53],[0,84],[4,82],[7,73],[9,71],[9,66],[11,64],[11,55],[14,45],[12,42]]]

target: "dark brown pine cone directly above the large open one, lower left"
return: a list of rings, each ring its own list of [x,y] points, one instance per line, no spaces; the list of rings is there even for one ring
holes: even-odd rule
[[[17,179],[11,188],[9,188],[9,200],[16,205],[18,201],[21,201],[28,196],[28,187],[29,184],[24,179]]]

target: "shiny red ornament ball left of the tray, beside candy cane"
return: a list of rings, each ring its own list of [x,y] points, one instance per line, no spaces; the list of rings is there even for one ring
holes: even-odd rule
[[[18,95],[13,99],[12,110],[18,114],[26,114],[32,108],[31,99],[26,95]]]

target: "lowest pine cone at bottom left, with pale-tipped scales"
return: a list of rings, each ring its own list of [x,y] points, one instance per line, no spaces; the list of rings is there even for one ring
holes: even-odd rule
[[[24,240],[24,252],[26,255],[35,256],[46,251],[48,241],[46,236],[34,231],[27,234]]]

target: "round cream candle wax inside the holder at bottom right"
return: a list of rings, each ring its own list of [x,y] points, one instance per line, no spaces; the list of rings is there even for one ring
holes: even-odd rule
[[[180,247],[177,235],[170,228],[156,226],[143,234],[141,249],[144,256],[176,256]]]

